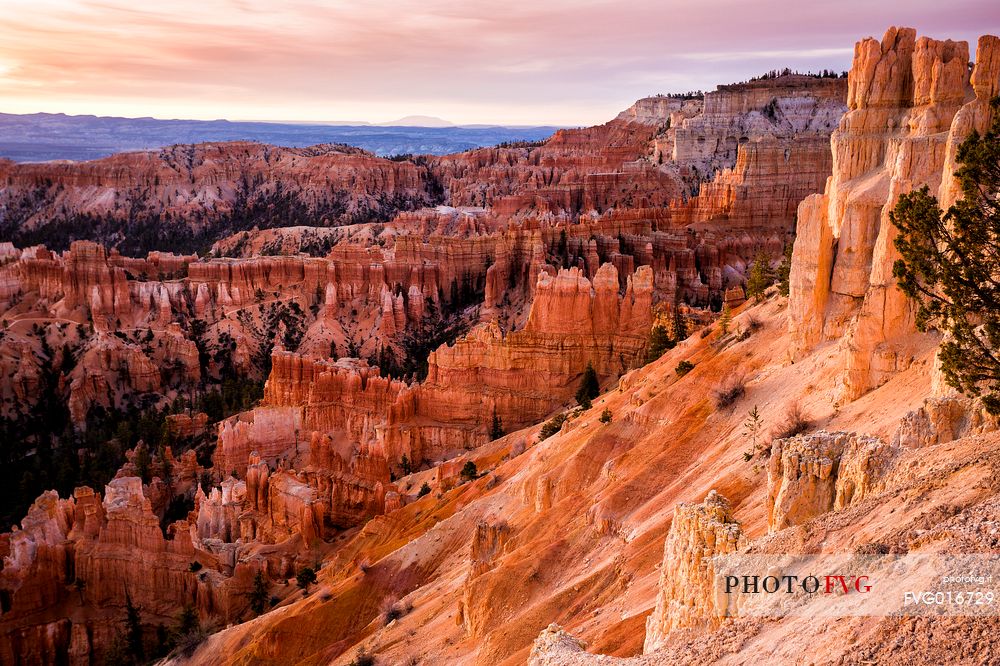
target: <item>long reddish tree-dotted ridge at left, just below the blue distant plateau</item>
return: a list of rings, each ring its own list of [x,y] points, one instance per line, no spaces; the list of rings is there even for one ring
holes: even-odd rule
[[[199,219],[220,236],[239,229],[241,222],[246,229],[275,226],[269,209],[282,211],[288,226],[329,226],[372,213],[391,216],[432,203],[429,180],[425,167],[342,145],[204,143],[82,163],[0,161],[4,220],[18,231],[87,219],[104,223],[93,224],[95,229],[146,224],[155,233],[163,221],[176,225],[177,240],[191,239]],[[170,235],[158,238],[176,245]],[[119,242],[140,247],[134,239]]]

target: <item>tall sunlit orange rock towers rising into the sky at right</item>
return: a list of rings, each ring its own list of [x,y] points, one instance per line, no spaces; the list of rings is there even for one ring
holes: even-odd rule
[[[795,355],[844,336],[845,400],[886,381],[914,353],[914,307],[892,276],[889,213],[922,185],[954,200],[955,146],[985,124],[1000,78],[996,38],[979,47],[978,87],[965,42],[890,28],[881,43],[855,47],[849,111],[830,139],[833,176],[799,206],[789,305]]]

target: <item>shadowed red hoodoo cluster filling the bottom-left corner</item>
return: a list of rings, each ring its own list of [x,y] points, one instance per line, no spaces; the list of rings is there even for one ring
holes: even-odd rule
[[[170,621],[184,606],[202,617],[236,617],[246,607],[246,573],[218,570],[195,542],[186,521],[164,535],[135,477],[113,480],[103,501],[90,488],[65,500],[43,494],[0,545],[0,656],[7,663],[98,659],[111,646],[126,595],[145,621]],[[29,620],[77,601],[96,612],[41,625]]]

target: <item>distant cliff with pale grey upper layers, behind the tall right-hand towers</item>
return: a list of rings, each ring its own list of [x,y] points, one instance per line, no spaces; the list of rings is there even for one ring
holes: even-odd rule
[[[605,125],[561,130],[533,148],[438,158],[435,168],[453,205],[502,214],[669,205],[679,207],[678,224],[718,217],[787,228],[789,196],[817,191],[829,175],[825,143],[844,111],[846,87],[843,79],[789,75],[719,86],[703,99],[645,98]],[[734,174],[708,201],[687,205],[725,169]],[[764,209],[768,200],[771,210]]]

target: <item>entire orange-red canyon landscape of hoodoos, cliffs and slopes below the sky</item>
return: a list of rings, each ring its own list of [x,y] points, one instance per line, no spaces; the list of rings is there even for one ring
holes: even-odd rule
[[[996,420],[892,274],[899,195],[954,202],[991,121],[1000,39],[969,62],[890,28],[846,78],[540,145],[0,163],[8,429],[84,470],[108,414],[163,410],[0,534],[0,661],[115,658],[130,609],[178,664],[1000,658],[995,617],[740,616],[713,582],[748,552],[1000,549]],[[152,220],[200,247],[128,240]],[[748,294],[788,248],[787,296]],[[233,377],[259,394],[206,407]],[[182,611],[205,635],[170,652]]]

